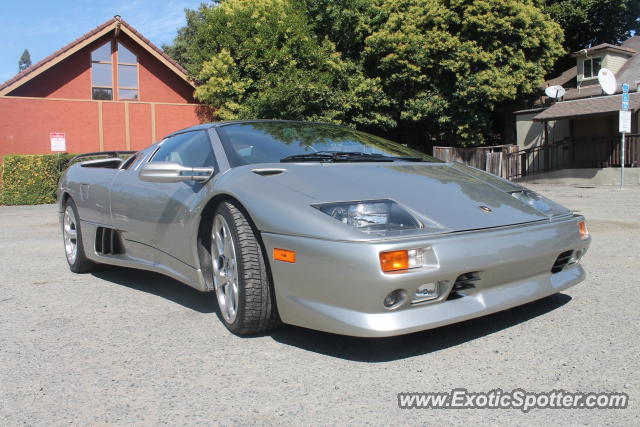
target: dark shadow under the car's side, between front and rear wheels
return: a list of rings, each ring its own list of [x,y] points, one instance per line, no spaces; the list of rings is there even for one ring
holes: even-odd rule
[[[213,294],[205,294],[162,274],[124,267],[105,267],[93,276],[168,299],[200,313],[216,313],[218,304]]]

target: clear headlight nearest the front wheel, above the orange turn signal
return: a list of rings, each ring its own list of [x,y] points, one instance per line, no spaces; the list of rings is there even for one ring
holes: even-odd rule
[[[422,224],[393,200],[312,205],[330,217],[365,232],[415,230]]]

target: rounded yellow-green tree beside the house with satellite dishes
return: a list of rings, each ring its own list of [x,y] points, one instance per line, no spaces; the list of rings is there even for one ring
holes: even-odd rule
[[[532,1],[397,0],[366,39],[401,127],[460,145],[489,136],[496,105],[531,93],[562,53],[562,31]]]

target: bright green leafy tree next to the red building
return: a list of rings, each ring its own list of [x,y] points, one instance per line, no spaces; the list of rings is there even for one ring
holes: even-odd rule
[[[187,20],[166,50],[199,83],[196,98],[221,119],[388,120],[375,108],[386,102],[379,79],[319,41],[295,0],[227,0],[188,12]]]

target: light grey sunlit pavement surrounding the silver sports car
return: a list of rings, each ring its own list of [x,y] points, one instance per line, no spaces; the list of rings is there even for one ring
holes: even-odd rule
[[[358,339],[230,334],[212,294],[71,273],[55,206],[0,207],[0,425],[638,425],[640,189],[530,186],[587,217],[585,282],[506,312]],[[488,248],[490,250],[490,248]],[[618,391],[618,410],[398,408],[399,392]]]

